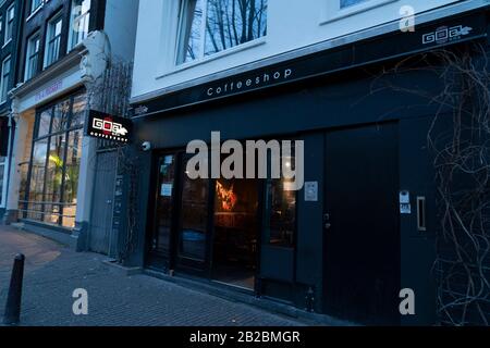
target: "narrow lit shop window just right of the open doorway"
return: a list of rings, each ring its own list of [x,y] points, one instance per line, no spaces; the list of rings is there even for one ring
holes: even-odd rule
[[[283,159],[285,165],[295,163],[294,157]],[[294,247],[296,231],[296,195],[293,181],[267,179],[265,229],[270,245]]]

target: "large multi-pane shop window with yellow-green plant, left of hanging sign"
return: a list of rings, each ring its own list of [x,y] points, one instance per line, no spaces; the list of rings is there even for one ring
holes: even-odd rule
[[[85,111],[79,94],[37,113],[24,217],[75,226]]]

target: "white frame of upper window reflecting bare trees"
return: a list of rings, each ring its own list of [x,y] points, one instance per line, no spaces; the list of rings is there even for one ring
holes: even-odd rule
[[[186,70],[189,69],[192,66],[198,65],[198,64],[203,64],[205,62],[209,62],[219,58],[222,58],[224,55],[229,55],[229,54],[233,54],[243,50],[247,50],[249,48],[262,45],[266,42],[267,40],[267,35],[264,35],[261,37],[258,37],[252,41],[247,41],[245,44],[240,44],[236,46],[233,46],[231,48],[221,50],[219,52],[206,55],[205,54],[205,50],[206,50],[206,23],[207,23],[207,15],[208,15],[208,0],[203,0],[205,1],[204,8],[203,8],[203,23],[201,23],[201,27],[200,27],[200,38],[201,38],[201,47],[199,48],[199,55],[192,61],[188,62],[183,62],[183,63],[179,63],[177,59],[179,59],[179,50],[180,50],[180,45],[181,45],[181,35],[183,33],[182,30],[182,17],[184,15],[184,9],[185,9],[185,1],[188,0],[181,0],[179,1],[179,20],[177,20],[177,34],[176,34],[176,41],[175,41],[175,49],[174,49],[174,54],[173,54],[173,72],[177,72],[177,71],[182,71],[182,70]],[[269,18],[269,16],[268,16]],[[269,20],[268,20],[269,22]],[[163,77],[168,75],[168,73],[163,73],[161,76],[159,77]]]

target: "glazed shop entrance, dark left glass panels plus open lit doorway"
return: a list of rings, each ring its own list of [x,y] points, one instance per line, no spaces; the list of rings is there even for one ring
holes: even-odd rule
[[[255,290],[258,179],[191,179],[189,156],[157,156],[146,265]]]

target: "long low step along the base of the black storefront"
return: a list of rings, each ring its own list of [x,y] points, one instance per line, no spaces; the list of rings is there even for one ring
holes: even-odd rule
[[[171,276],[166,273],[148,269],[144,269],[142,272],[143,274],[154,276],[166,282],[171,282],[193,290],[206,293],[211,296],[221,297],[229,301],[242,302],[269,312],[291,316],[303,321],[306,325],[358,326],[358,324],[348,321],[339,320],[326,314],[307,312],[295,308],[292,304],[286,304],[270,298],[256,297],[249,294],[249,291],[243,291],[240,288],[235,289],[232,286],[222,285],[220,283],[212,283],[207,279],[189,278],[181,275]]]

